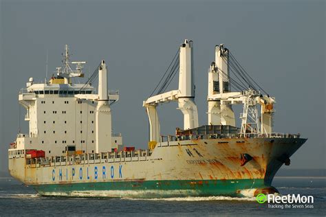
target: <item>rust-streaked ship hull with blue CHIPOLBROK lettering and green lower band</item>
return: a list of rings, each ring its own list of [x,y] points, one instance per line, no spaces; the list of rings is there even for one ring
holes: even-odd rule
[[[272,194],[272,179],[306,139],[196,139],[157,144],[151,155],[26,163],[10,174],[45,196],[165,198]],[[122,153],[122,152],[121,152]],[[140,152],[138,152],[140,153]],[[124,153],[125,154],[125,153]],[[244,154],[251,157],[243,162]],[[86,156],[86,155],[84,155]]]

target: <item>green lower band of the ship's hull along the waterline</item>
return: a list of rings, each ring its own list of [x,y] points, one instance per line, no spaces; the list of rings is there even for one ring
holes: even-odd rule
[[[241,196],[239,190],[269,187],[263,179],[108,181],[92,183],[59,183],[34,185],[41,195],[108,196],[108,197],[174,197],[174,196]]]

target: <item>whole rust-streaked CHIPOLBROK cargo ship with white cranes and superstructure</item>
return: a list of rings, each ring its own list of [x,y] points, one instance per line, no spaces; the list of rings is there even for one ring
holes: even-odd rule
[[[19,91],[29,132],[19,133],[10,144],[9,172],[42,196],[274,194],[277,170],[289,165],[290,157],[307,140],[299,134],[274,133],[275,98],[261,89],[224,45],[215,46],[215,61],[208,69],[208,122],[199,126],[193,41],[186,39],[143,101],[149,148],[124,146],[122,135],[112,132],[111,106],[118,102],[119,92],[108,88],[106,62],[100,62],[87,82],[73,82],[84,77],[85,63],[72,62],[65,45],[63,65],[56,74],[42,83],[29,78]],[[166,91],[176,74],[178,88]],[[96,80],[97,91],[92,86]],[[164,136],[157,106],[168,102],[177,102],[184,123],[182,128],[173,126],[173,135]],[[239,127],[234,104],[243,107]]]

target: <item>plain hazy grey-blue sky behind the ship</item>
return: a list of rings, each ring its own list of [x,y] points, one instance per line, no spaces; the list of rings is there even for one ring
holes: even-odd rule
[[[274,131],[308,138],[287,168],[325,168],[325,1],[0,2],[0,171],[8,170],[8,146],[19,128],[28,133],[19,89],[30,77],[44,81],[46,56],[49,76],[61,65],[65,44],[73,60],[87,61],[85,77],[105,60],[109,89],[120,90],[111,107],[114,133],[122,133],[126,146],[145,148],[142,101],[185,38],[194,45],[199,125],[207,122],[208,67],[215,45],[224,43],[276,98]],[[182,127],[176,108],[160,106],[162,135]]]

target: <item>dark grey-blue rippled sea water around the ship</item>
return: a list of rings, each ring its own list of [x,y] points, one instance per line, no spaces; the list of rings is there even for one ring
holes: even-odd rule
[[[0,178],[0,216],[107,216],[107,215],[319,215],[326,214],[326,177],[276,177],[281,195],[314,196],[311,208],[257,203],[256,198],[228,196],[187,198],[65,198],[44,197],[12,178]],[[283,208],[282,208],[283,207]]]

